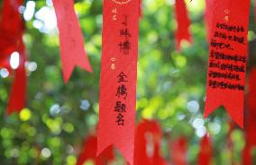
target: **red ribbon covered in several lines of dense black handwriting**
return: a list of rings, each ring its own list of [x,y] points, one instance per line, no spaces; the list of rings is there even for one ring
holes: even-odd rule
[[[205,117],[220,106],[243,127],[250,0],[215,0]]]

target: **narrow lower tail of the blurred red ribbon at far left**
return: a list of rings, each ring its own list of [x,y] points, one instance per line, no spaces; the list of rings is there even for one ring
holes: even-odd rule
[[[10,115],[15,111],[20,112],[25,106],[26,98],[26,71],[24,64],[15,70],[14,83],[12,85],[10,99],[7,105],[7,114]]]

